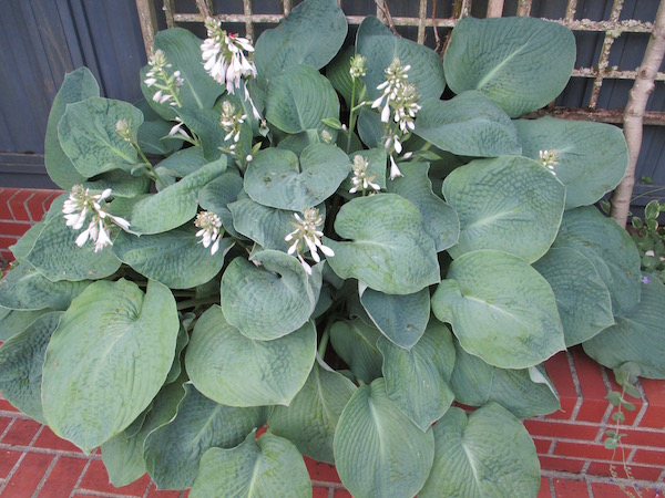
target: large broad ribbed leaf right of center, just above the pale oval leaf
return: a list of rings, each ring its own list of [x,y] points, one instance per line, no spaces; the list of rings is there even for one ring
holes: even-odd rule
[[[535,160],[501,156],[457,168],[443,181],[443,196],[460,217],[453,258],[495,249],[533,262],[556,238],[565,187]]]

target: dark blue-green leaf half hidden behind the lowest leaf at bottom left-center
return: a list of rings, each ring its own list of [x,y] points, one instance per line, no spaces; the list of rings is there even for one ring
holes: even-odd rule
[[[145,438],[147,471],[161,489],[192,487],[204,453],[233,448],[263,425],[263,408],[234,408],[208,400],[185,384],[185,397],[167,424]]]

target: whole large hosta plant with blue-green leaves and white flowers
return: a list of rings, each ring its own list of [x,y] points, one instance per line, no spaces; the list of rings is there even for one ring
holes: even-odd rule
[[[65,191],[0,282],[0,387],[113,484],[306,497],[306,455],[356,497],[532,497],[545,360],[663,375],[665,288],[593,206],[621,131],[520,118],[566,28],[466,18],[443,60],[372,17],[344,48],[335,0],[255,45],[206,28],[157,34],[141,102],[65,77]]]

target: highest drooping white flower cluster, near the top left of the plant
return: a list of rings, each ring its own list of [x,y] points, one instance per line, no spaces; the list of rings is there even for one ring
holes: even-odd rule
[[[208,38],[201,45],[204,68],[216,82],[226,84],[228,93],[235,93],[242,77],[256,77],[256,66],[245,55],[254,52],[254,46],[246,38],[227,33],[212,18],[205,20],[205,28]]]

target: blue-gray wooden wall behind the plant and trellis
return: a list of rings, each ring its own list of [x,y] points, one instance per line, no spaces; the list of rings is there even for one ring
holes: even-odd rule
[[[155,0],[161,3],[160,0]],[[178,11],[195,11],[194,0],[177,0]],[[280,1],[255,0],[255,12],[278,13]],[[298,3],[298,1],[294,1]],[[418,17],[418,2],[390,0],[393,15]],[[439,17],[449,17],[450,3],[439,1]],[[484,6],[473,2],[472,14],[482,17]],[[565,14],[565,0],[534,0],[532,15],[551,19]],[[580,0],[577,19],[608,19],[612,0]],[[430,2],[431,8],[432,2]],[[622,19],[653,20],[656,0],[626,0]],[[216,11],[243,12],[239,0],[215,0]],[[347,0],[348,14],[375,11],[374,0]],[[516,0],[507,0],[504,14],[516,12]],[[243,25],[233,30],[243,31]],[[260,32],[262,27],[257,27]],[[416,32],[403,29],[415,38]],[[195,32],[203,35],[202,27]],[[441,34],[444,34],[443,32]],[[602,33],[576,33],[576,66],[597,61]],[[610,65],[636,69],[648,41],[647,34],[624,34],[615,41]],[[433,32],[428,32],[428,44]],[[43,167],[43,138],[49,108],[64,74],[86,65],[100,82],[104,96],[135,101],[141,97],[139,70],[145,52],[135,0],[0,0],[0,186],[50,187]],[[585,106],[593,82],[573,79],[559,105]],[[598,107],[625,106],[631,81],[607,81]],[[648,110],[665,110],[665,85],[656,84]],[[653,185],[641,185],[651,177]],[[636,195],[665,186],[665,127],[646,126],[640,154]],[[663,191],[654,194],[663,197]],[[636,204],[643,204],[645,196]]]

